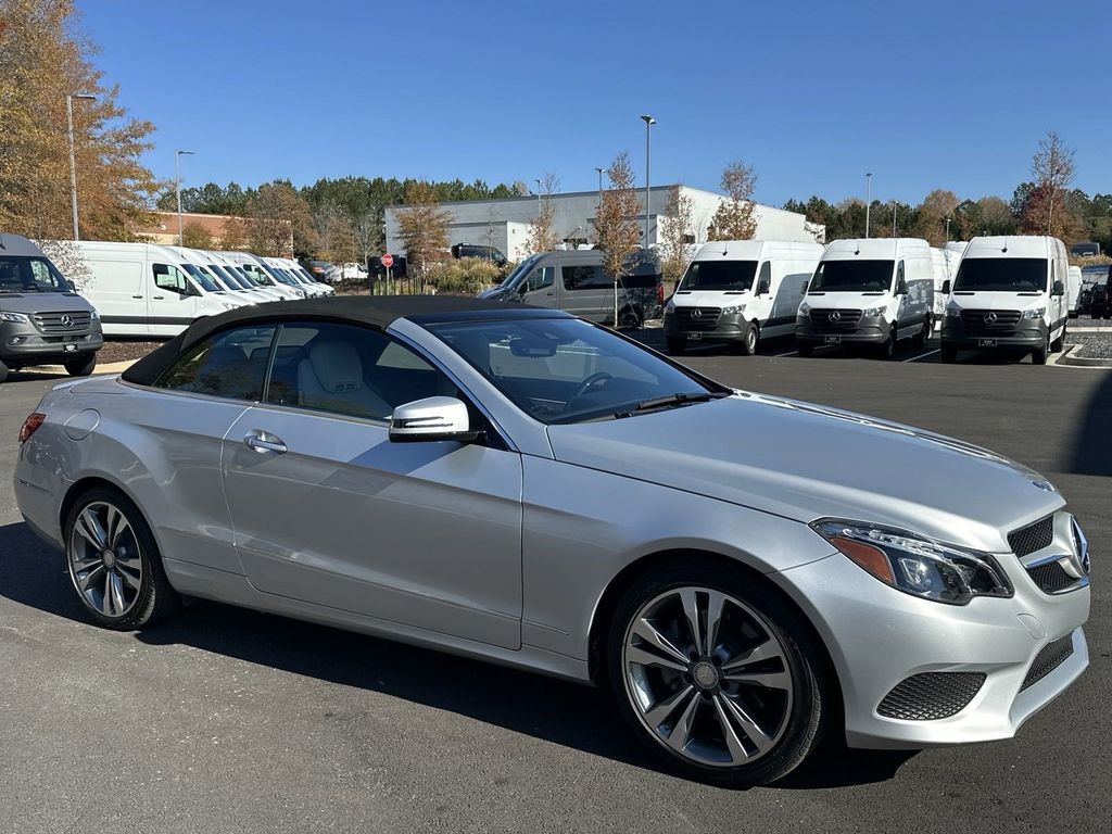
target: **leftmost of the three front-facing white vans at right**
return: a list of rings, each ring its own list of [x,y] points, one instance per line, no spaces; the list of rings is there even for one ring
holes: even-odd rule
[[[762,338],[791,336],[820,244],[715,240],[687,265],[664,307],[668,351],[693,341],[727,341],[752,356]]]

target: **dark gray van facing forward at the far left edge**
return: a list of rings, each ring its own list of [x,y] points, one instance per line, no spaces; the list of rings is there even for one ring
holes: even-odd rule
[[[0,383],[29,365],[89,376],[103,344],[96,308],[50,258],[27,238],[0,232]]]

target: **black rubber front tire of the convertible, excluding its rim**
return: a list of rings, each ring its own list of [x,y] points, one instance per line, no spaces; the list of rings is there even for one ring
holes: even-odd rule
[[[624,648],[633,619],[651,600],[672,589],[698,587],[734,597],[755,612],[761,627],[780,642],[793,693],[775,743],[755,761],[736,766],[701,764],[676,753],[642,721],[627,689]],[[833,683],[822,648],[810,626],[775,589],[741,568],[708,565],[663,565],[638,577],[622,596],[609,624],[606,674],[610,694],[626,723],[646,747],[687,777],[729,786],[762,785],[786,776],[818,746],[835,709]],[[716,684],[717,685],[717,684]],[[696,696],[698,697],[698,696]]]

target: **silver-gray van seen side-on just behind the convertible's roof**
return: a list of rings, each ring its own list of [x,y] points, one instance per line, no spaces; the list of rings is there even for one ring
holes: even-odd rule
[[[533,255],[479,298],[522,301],[566,310],[588,321],[614,324],[614,277],[603,269],[603,252],[557,250]],[[637,252],[618,287],[618,327],[639,327],[658,318],[664,306],[664,276],[654,256]]]

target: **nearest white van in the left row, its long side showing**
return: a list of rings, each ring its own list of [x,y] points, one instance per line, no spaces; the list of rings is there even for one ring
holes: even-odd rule
[[[155,244],[79,240],[72,244],[91,275],[85,297],[107,336],[176,336],[195,319],[245,302],[208,275],[189,274],[181,256]]]

